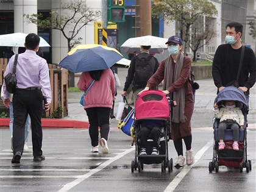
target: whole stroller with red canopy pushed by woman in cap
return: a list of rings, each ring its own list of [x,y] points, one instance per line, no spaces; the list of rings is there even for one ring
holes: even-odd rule
[[[170,105],[163,91],[143,91],[135,104],[135,159],[132,172],[141,172],[144,164],[162,163],[162,172],[168,167],[172,171],[172,158],[168,157],[168,135],[170,133]]]

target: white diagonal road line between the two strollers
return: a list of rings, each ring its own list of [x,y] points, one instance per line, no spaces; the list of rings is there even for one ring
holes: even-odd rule
[[[202,157],[202,155],[204,155],[204,152],[207,151],[210,146],[212,146],[213,144],[213,140],[208,141],[207,144],[205,144],[205,146],[203,148],[201,148],[195,157],[195,161],[194,161],[194,165],[196,164],[196,162]],[[188,174],[188,172],[190,172],[190,169],[194,166],[185,166],[182,171],[179,172],[179,174],[177,174],[177,176],[169,183],[169,185],[166,187],[164,192],[171,192],[174,191],[176,189],[176,187],[179,185],[179,183],[182,181],[182,179]]]

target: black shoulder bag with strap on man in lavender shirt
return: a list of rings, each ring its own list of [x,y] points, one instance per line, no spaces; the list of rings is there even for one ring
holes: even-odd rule
[[[4,77],[5,86],[9,93],[14,93],[16,90],[17,79],[16,79],[15,73],[16,73],[17,60],[18,60],[18,54],[15,55],[12,73],[9,73]]]

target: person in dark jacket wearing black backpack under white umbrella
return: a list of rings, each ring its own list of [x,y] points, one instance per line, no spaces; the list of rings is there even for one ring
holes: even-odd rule
[[[127,90],[132,84],[133,99],[136,101],[138,93],[146,87],[149,78],[157,71],[159,63],[153,55],[149,54],[150,48],[151,46],[142,45],[141,53],[132,58],[124,84],[123,97],[127,95]]]

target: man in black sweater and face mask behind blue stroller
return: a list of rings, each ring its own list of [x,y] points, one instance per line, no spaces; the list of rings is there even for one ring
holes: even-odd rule
[[[232,22],[226,26],[227,44],[219,45],[215,52],[212,66],[212,76],[218,91],[236,80],[241,57],[241,36],[243,25]],[[249,89],[256,81],[256,59],[251,48],[244,48],[241,73],[238,78],[239,89],[249,94]]]

